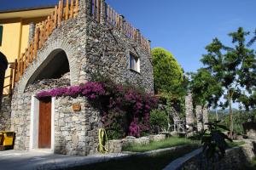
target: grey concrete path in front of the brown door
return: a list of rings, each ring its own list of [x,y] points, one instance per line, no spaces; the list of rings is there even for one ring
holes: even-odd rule
[[[108,154],[96,156],[63,156],[44,150],[0,151],[0,170],[48,170],[86,165],[121,158],[127,154]]]

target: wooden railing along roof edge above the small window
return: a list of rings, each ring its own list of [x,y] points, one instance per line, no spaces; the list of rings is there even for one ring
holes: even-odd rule
[[[127,37],[130,37],[134,41],[141,44],[141,46],[150,52],[150,41],[143,37],[140,31],[131,26],[131,24],[125,21],[123,15],[118,14],[113,8],[111,8],[107,3],[101,4],[101,0],[91,0],[91,14],[98,21],[101,22],[101,14],[102,14],[102,5],[105,7],[105,14],[103,16],[107,20],[109,24],[116,27],[120,31],[122,31]]]

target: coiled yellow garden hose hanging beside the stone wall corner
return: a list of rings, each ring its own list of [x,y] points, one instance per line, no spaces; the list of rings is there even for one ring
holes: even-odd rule
[[[105,128],[99,128],[99,144],[97,150],[102,154],[108,153],[108,136]]]

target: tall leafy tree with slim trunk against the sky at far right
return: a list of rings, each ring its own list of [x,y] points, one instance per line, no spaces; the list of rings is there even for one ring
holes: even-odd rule
[[[233,47],[224,46],[218,38],[207,45],[207,54],[203,55],[201,62],[206,66],[216,80],[221,83],[224,90],[225,102],[219,106],[230,108],[230,135],[233,133],[233,102],[241,102],[244,94],[251,96],[256,84],[256,59],[253,49],[247,47],[246,37],[249,32],[240,27],[231,32]],[[246,93],[244,93],[246,91]],[[216,96],[219,99],[219,96]],[[250,98],[250,97],[247,97]]]

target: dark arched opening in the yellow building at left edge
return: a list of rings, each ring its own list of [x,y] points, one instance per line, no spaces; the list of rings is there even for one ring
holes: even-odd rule
[[[5,55],[0,52],[0,108],[1,108],[2,97],[3,97],[4,76],[5,76],[5,71],[7,67],[8,67],[8,61]]]

